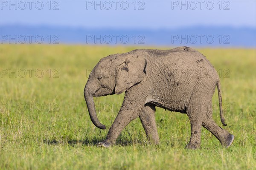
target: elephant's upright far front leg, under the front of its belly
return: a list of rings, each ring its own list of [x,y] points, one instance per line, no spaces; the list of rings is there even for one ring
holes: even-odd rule
[[[151,144],[159,144],[159,137],[157,133],[157,125],[154,113],[156,108],[152,105],[145,105],[140,112],[140,121],[146,132],[148,141]]]

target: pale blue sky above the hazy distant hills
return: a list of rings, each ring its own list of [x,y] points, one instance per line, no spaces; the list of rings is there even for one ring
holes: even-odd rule
[[[127,29],[189,26],[256,27],[255,0],[180,2],[52,0],[49,3],[49,0],[32,0],[28,3],[24,0],[10,3],[9,0],[0,0],[0,24]]]

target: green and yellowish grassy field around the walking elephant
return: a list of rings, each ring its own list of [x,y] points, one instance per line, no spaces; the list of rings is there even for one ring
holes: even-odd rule
[[[0,47],[0,169],[256,169],[256,51],[198,49],[221,77],[226,127],[235,136],[224,149],[202,128],[200,150],[186,150],[185,114],[157,108],[160,144],[150,145],[139,119],[111,148],[105,139],[124,94],[95,98],[99,120],[90,121],[83,89],[100,58],[136,47],[4,45]],[[154,48],[154,47],[151,47]],[[16,70],[15,70],[16,69]],[[213,118],[221,125],[218,94]]]

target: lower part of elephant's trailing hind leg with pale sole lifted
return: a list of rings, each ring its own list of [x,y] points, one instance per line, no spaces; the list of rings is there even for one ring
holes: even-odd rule
[[[209,130],[222,144],[224,147],[230,147],[234,141],[234,136],[227,132],[227,130],[219,127],[212,117],[205,116],[203,120],[203,127]]]

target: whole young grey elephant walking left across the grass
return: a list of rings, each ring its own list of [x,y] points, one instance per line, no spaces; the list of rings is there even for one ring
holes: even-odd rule
[[[102,58],[90,73],[84,98],[90,118],[96,127],[105,129],[96,115],[93,97],[125,92],[122,107],[99,146],[109,147],[129,122],[140,117],[148,140],[159,143],[155,107],[186,113],[191,123],[187,148],[201,144],[201,126],[209,130],[224,147],[234,136],[212,119],[212,95],[218,88],[220,117],[221,87],[217,72],[204,55],[195,49],[178,47],[171,50],[137,49]]]

